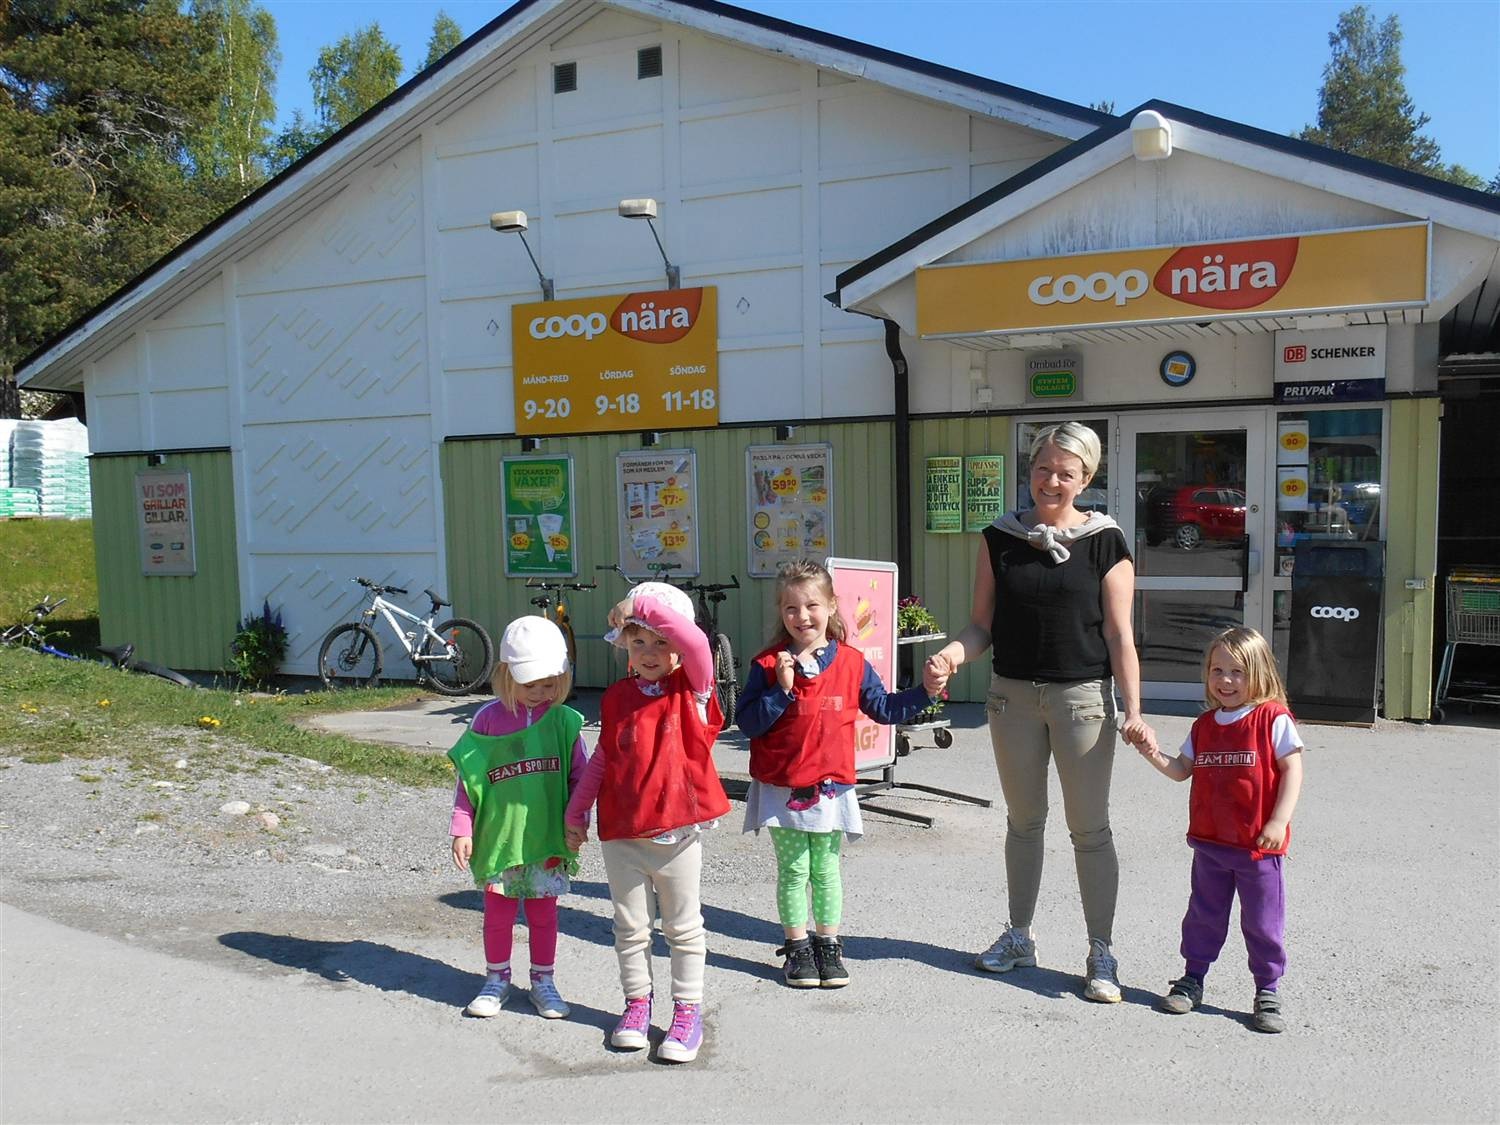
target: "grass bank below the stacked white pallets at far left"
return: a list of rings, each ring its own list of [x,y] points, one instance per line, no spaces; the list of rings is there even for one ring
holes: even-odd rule
[[[46,620],[54,645],[87,652],[99,644],[93,520],[0,519],[0,628],[42,600],[66,597]]]

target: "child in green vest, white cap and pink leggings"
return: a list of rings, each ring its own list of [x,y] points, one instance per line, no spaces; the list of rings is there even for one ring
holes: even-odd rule
[[[490,686],[498,698],[448,752],[459,776],[448,828],[453,862],[474,876],[484,898],[484,987],[465,1012],[500,1014],[525,900],[531,1005],[543,1018],[561,1020],[568,1006],[552,981],[558,896],[578,872],[562,812],[586,764],[584,716],[562,704],[573,686],[562,632],[540,616],[512,621]]]

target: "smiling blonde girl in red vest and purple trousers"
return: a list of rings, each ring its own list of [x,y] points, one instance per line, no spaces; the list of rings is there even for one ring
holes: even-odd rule
[[[1186,969],[1158,1008],[1182,1016],[1203,1002],[1203,978],[1224,948],[1228,915],[1239,920],[1256,978],[1251,1026],[1286,1029],[1276,986],[1287,968],[1282,861],[1302,792],[1302,736],[1287,710],[1270,645],[1254,628],[1227,628],[1203,660],[1204,711],[1176,758],[1155,742],[1142,756],[1174,782],[1192,778],[1188,843],[1192,891],[1182,920]]]

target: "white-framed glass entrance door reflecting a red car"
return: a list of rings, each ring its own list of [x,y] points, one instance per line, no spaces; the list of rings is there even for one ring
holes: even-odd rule
[[[1142,694],[1202,699],[1203,646],[1263,627],[1264,416],[1122,414],[1112,507],[1136,556]]]

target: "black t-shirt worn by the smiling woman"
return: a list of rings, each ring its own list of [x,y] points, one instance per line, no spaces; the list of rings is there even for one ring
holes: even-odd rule
[[[996,675],[1048,684],[1110,675],[1104,576],[1130,558],[1124,532],[1107,528],[1066,544],[1066,562],[993,526],[984,542],[994,567]]]

